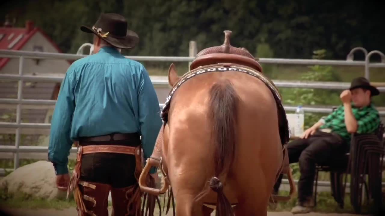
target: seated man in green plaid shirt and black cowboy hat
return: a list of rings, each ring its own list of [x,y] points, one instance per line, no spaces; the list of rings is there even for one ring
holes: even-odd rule
[[[343,105],[326,118],[307,129],[301,139],[287,145],[289,163],[299,162],[298,201],[291,212],[308,213],[311,210],[315,164],[331,160],[331,155],[349,151],[352,133],[373,133],[380,125],[380,116],[371,96],[380,92],[363,77],[355,78],[348,90],[341,93]],[[278,192],[282,175],[274,186]]]

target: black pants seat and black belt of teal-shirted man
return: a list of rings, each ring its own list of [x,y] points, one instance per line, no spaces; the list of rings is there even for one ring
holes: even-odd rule
[[[139,146],[140,140],[116,140],[80,143],[87,145]],[[110,184],[112,188],[125,188],[136,184],[135,155],[120,153],[90,153],[82,155],[80,180]]]

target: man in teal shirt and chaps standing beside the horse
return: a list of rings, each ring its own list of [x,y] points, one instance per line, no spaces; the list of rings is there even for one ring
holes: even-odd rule
[[[82,26],[81,30],[94,34],[95,54],[69,67],[51,122],[48,158],[55,167],[57,186],[63,190],[69,185],[67,163],[74,141],[84,149],[114,145],[125,151],[141,144],[147,159],[162,125],[159,101],[146,68],[120,53],[139,41],[136,33],[127,30],[126,19],[102,14],[92,28]],[[78,205],[78,211],[108,215],[111,191],[115,214],[127,214],[126,193],[131,190],[134,196],[132,186],[139,188],[135,156],[99,152],[81,155],[81,159],[79,188],[88,198],[82,201],[86,209]],[[130,211],[137,211],[137,203],[132,205]]]

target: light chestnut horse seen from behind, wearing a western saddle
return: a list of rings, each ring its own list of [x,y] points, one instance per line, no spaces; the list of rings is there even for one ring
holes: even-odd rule
[[[183,77],[174,65],[169,68],[174,88],[162,113],[167,121],[139,185],[159,195],[170,184],[178,216],[210,215],[215,207],[218,215],[266,215],[282,171],[288,134],[280,133],[287,120],[280,116],[276,92],[245,73],[263,76],[255,68],[224,62],[229,63],[197,66]],[[162,189],[146,186],[151,166],[165,175]]]

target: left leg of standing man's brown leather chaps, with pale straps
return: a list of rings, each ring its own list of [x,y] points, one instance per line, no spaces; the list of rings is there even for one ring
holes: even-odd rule
[[[81,216],[108,216],[108,184],[79,181],[86,212],[79,212]]]

